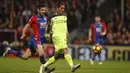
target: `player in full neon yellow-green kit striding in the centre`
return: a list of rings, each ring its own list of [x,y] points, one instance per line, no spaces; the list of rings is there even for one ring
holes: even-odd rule
[[[73,64],[73,60],[68,53],[68,47],[67,47],[67,36],[68,36],[68,30],[67,30],[67,16],[64,13],[65,10],[65,4],[64,2],[58,2],[56,7],[56,13],[49,18],[50,22],[50,29],[52,33],[52,41],[55,47],[55,55],[52,56],[45,64],[43,64],[43,67],[47,67],[48,65],[53,64],[56,60],[59,59],[59,54],[64,54],[65,60],[69,63],[71,71],[75,72],[81,65]]]

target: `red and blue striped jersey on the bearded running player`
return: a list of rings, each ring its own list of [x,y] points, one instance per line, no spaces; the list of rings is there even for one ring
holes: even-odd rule
[[[47,21],[48,19],[46,16],[34,15],[30,18],[28,24],[32,27],[33,37],[36,43],[44,40],[44,33],[46,32]]]

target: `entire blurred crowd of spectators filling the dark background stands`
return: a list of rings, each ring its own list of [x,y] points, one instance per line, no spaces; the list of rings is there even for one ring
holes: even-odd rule
[[[47,14],[55,13],[58,0],[41,0],[47,6]],[[68,30],[73,32],[78,26],[82,26],[90,17],[97,13],[97,5],[105,0],[63,0],[66,3],[66,13],[68,15]],[[100,2],[99,2],[100,1]],[[14,0],[13,10],[11,10],[11,0],[1,0],[0,2],[0,29],[17,30],[18,40],[21,36],[22,28],[32,15],[37,12],[39,0]],[[13,22],[10,21],[10,14],[13,12]],[[125,11],[125,21],[121,19],[121,9],[116,7],[103,18],[107,26],[107,35],[104,44],[109,45],[130,45],[130,7]],[[12,24],[11,24],[12,23]],[[90,23],[91,24],[91,23]],[[85,33],[86,34],[86,33]],[[74,37],[71,44],[89,44],[88,35]],[[28,38],[26,38],[28,39]],[[23,43],[18,42],[19,45]],[[26,42],[24,42],[26,43]]]

